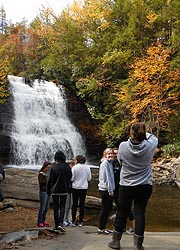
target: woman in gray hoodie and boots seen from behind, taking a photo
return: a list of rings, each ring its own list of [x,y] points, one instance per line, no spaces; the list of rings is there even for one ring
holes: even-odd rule
[[[158,145],[155,135],[146,133],[145,124],[132,124],[130,138],[121,142],[118,160],[122,162],[119,188],[119,209],[116,214],[112,241],[108,246],[120,249],[120,240],[126,220],[134,203],[134,249],[143,250],[145,210],[152,193],[151,161]]]

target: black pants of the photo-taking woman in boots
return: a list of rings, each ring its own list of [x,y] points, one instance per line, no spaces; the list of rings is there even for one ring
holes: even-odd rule
[[[152,193],[151,185],[120,186],[119,207],[116,214],[115,230],[123,232],[127,217],[134,202],[135,234],[144,235],[145,210]]]

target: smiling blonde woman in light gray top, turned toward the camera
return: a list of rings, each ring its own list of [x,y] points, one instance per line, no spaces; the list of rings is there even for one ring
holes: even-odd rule
[[[106,148],[103,152],[99,168],[98,189],[101,195],[101,212],[99,215],[99,234],[109,234],[106,230],[107,220],[113,205],[113,195],[115,190],[113,172],[114,152],[112,148]]]

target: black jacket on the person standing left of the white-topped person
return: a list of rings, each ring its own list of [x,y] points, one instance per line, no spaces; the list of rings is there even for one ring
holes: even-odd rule
[[[72,172],[68,163],[64,161],[54,162],[51,165],[47,183],[47,194],[67,194],[71,177]]]

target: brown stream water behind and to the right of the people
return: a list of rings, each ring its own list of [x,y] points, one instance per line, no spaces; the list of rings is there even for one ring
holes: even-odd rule
[[[98,193],[98,177],[90,184],[88,195],[100,197]],[[92,216],[88,222],[98,226],[99,210],[86,209],[86,215]],[[114,214],[112,211],[111,214]],[[113,229],[114,222],[108,220],[107,228]],[[130,227],[127,221],[127,229]],[[180,189],[176,186],[154,185],[153,193],[146,208],[146,227],[149,232],[180,232]]]

